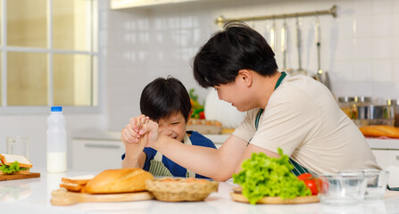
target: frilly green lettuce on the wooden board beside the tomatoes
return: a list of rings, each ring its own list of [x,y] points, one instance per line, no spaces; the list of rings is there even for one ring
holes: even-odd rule
[[[243,195],[251,204],[263,196],[279,196],[282,199],[311,195],[312,192],[291,172],[294,167],[289,157],[278,148],[280,158],[270,158],[266,154],[253,153],[244,161],[242,170],[233,174],[233,182],[241,185]]]

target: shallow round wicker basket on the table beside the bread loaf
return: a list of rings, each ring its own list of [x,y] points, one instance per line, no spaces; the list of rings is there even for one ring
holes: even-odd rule
[[[190,179],[190,178],[188,178]],[[218,191],[219,183],[204,179],[195,181],[185,178],[161,178],[146,180],[145,187],[155,198],[164,202],[204,201],[212,192]]]

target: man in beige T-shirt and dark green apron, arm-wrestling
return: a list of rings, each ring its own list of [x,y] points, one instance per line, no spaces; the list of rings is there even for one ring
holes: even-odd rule
[[[380,169],[359,128],[328,88],[303,75],[278,72],[270,45],[242,22],[230,22],[211,37],[195,55],[193,67],[199,85],[214,87],[221,100],[247,111],[232,136],[218,150],[182,146],[158,135],[158,125],[146,119],[128,124],[136,131],[123,130],[124,142],[140,140],[138,144],[220,181],[238,173],[253,152],[279,157],[278,147],[290,157],[295,175]]]

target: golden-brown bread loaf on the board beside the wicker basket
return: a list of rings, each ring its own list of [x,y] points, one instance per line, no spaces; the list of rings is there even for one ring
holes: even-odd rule
[[[108,169],[91,179],[85,186],[85,193],[131,193],[145,191],[145,180],[154,176],[137,168]]]

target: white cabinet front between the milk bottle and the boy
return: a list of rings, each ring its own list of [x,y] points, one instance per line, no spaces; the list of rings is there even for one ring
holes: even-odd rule
[[[125,146],[121,141],[74,139],[72,141],[72,169],[120,169]]]

